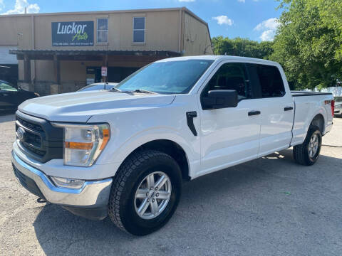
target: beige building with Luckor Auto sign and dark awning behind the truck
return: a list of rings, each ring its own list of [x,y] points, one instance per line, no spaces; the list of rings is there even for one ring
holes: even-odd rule
[[[0,16],[0,35],[0,65],[17,62],[19,85],[41,95],[100,82],[101,66],[120,82],[155,60],[213,53],[207,23],[184,7]]]

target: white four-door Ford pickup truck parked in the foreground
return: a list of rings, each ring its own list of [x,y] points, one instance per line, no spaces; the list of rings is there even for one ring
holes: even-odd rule
[[[182,181],[291,146],[309,166],[332,124],[333,96],[291,92],[278,63],[169,58],[110,91],[21,104],[12,163],[36,196],[146,235],[171,218]]]

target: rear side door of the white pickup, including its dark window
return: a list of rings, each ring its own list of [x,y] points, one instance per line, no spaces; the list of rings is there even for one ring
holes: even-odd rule
[[[294,101],[280,66],[249,64],[253,86],[259,88],[255,106],[261,112],[259,156],[289,147],[294,122]],[[280,70],[279,70],[280,68]],[[285,86],[286,85],[286,86]]]

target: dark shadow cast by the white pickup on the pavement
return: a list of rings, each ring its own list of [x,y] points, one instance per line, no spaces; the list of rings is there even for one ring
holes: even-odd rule
[[[170,222],[145,237],[124,233],[109,218],[103,221],[86,220],[51,204],[38,213],[33,226],[46,255],[136,255],[141,252],[145,255],[179,255],[182,252],[180,247],[186,250],[187,241],[205,240],[204,235],[207,234],[215,236],[231,232],[229,239],[239,242],[240,238],[229,231],[241,221],[239,218],[259,227],[258,231],[238,227],[241,229],[240,235],[245,237],[250,232],[262,233],[263,229],[268,233],[269,225],[276,225],[272,224],[273,218],[288,221],[289,215],[279,217],[272,210],[293,208],[288,202],[292,193],[296,194],[299,205],[306,201],[312,191],[301,191],[301,188],[315,186],[318,182],[316,178],[327,163],[336,167],[325,169],[325,175],[334,176],[342,159],[322,155],[315,167],[299,166],[294,162],[292,150],[286,149],[199,177],[184,184],[180,205]],[[259,205],[265,209],[254,212],[253,206]],[[280,228],[289,233],[286,227]]]

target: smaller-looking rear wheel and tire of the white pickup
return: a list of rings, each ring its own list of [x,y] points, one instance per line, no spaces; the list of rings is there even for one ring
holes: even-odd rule
[[[301,165],[316,163],[321,151],[322,133],[317,126],[310,126],[303,144],[294,146],[294,160]]]

